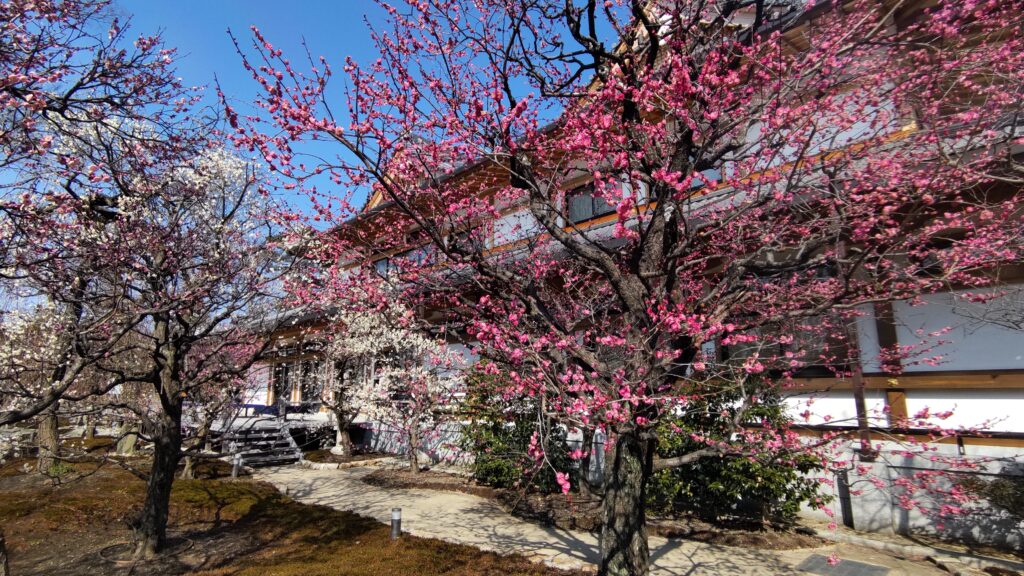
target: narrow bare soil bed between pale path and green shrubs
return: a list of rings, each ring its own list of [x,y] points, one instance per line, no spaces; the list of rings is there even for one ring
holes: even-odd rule
[[[601,502],[581,494],[538,494],[480,486],[472,479],[437,472],[413,474],[404,468],[381,468],[362,482],[382,488],[426,488],[474,494],[497,500],[511,513],[566,530],[596,532],[601,528]],[[649,519],[651,534],[683,538],[708,544],[767,550],[821,546],[824,540],[797,531],[760,530],[742,526],[710,524],[697,519]]]

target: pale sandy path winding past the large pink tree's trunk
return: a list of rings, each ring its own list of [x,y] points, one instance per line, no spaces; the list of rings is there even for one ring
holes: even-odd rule
[[[519,553],[560,568],[586,568],[597,562],[595,535],[530,524],[470,494],[385,489],[359,482],[371,471],[369,467],[314,470],[289,466],[264,468],[255,478],[273,484],[282,492],[287,490],[302,502],[353,511],[385,524],[390,523],[391,508],[400,507],[403,531],[416,536],[503,554]],[[772,551],[651,537],[650,551],[652,576],[806,575],[795,567],[812,553],[827,556],[833,551],[839,551],[844,559],[887,567],[890,576],[946,574],[925,563],[848,544]]]

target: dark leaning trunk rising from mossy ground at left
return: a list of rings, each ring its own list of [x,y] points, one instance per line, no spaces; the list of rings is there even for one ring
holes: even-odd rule
[[[153,433],[153,469],[145,490],[145,502],[137,529],[137,558],[152,558],[167,539],[167,517],[171,502],[174,472],[181,459],[180,407],[161,415]]]

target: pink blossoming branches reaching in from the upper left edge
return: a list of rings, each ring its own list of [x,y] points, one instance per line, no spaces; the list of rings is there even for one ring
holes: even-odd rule
[[[111,314],[122,252],[104,237],[129,164],[167,159],[166,136],[189,95],[159,37],[128,35],[105,1],[0,5],[0,281],[45,302],[56,347],[38,385],[7,387],[0,422],[50,408],[140,321]],[[144,122],[145,133],[129,126]],[[120,140],[122,156],[106,142]],[[100,379],[96,395],[116,382]]]

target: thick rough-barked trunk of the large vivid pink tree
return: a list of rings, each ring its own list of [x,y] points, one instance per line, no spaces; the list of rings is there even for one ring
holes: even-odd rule
[[[650,476],[648,454],[633,430],[617,434],[614,443],[604,465],[604,526],[598,574],[646,576],[650,563],[644,515]]]

